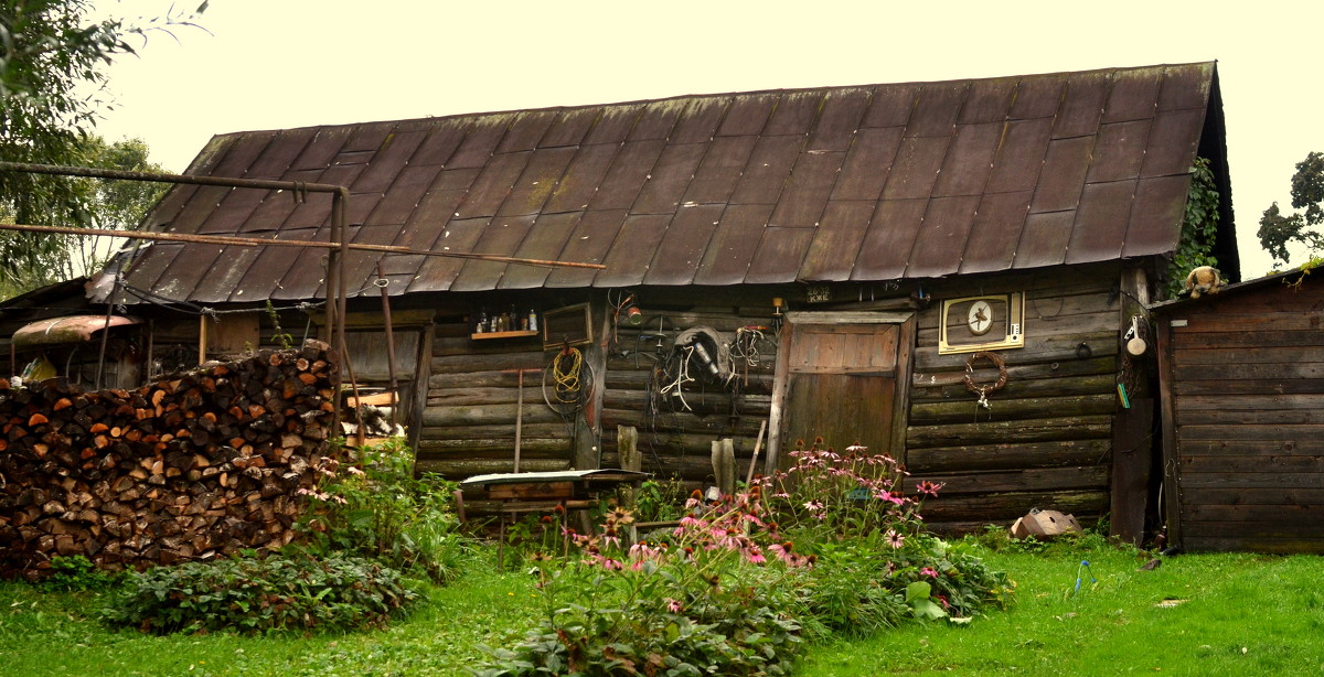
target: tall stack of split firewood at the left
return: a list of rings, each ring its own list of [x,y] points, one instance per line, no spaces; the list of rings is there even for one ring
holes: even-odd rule
[[[117,570],[287,545],[338,464],[338,383],[319,341],[132,391],[0,379],[0,577],[53,555]]]

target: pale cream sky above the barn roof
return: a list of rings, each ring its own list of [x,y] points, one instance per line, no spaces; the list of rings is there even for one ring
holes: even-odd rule
[[[1324,151],[1313,0],[211,0],[200,24],[109,70],[99,134],[171,172],[234,131],[1217,60],[1249,279],[1271,267],[1260,213]]]

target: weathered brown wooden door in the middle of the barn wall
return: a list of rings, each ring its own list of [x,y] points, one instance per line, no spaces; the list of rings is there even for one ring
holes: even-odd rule
[[[896,324],[796,324],[789,332],[781,455],[816,438],[894,454]]]

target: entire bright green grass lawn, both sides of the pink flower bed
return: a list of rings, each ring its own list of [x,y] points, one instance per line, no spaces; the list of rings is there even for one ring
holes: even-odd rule
[[[1319,674],[1324,559],[1178,555],[1155,571],[1099,546],[993,553],[1017,603],[968,625],[906,625],[870,640],[812,647],[802,676],[865,674]],[[1088,546],[1092,543],[1092,547]],[[1090,561],[1079,592],[1080,561]],[[413,676],[463,674],[479,643],[503,643],[536,614],[531,579],[478,570],[434,588],[385,631],[343,636],[154,637],[95,621],[95,595],[0,583],[0,674]],[[1184,600],[1160,604],[1168,599]]]

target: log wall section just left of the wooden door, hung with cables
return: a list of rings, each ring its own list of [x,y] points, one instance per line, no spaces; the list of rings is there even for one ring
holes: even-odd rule
[[[654,296],[677,296],[677,292],[654,292]],[[767,325],[772,311],[767,307],[687,305],[683,309],[650,307],[639,327],[620,327],[606,364],[606,391],[602,402],[604,465],[617,467],[616,428],[638,428],[638,448],[643,471],[658,479],[679,479],[690,484],[711,485],[712,442],[730,438],[735,447],[737,475],[743,479],[749,467],[760,423],[772,409],[773,372],[777,337],[771,329],[755,341],[757,354],[733,361],[736,373],[730,386],[694,382],[683,386],[681,398],[661,393],[666,383],[654,373],[658,366],[657,336],[663,335],[663,350],[671,350],[675,336],[694,327],[711,327],[731,340],[741,327]],[[643,299],[647,301],[647,296]],[[645,303],[645,307],[647,304]],[[661,331],[659,331],[661,320]],[[686,409],[688,406],[688,409]],[[767,436],[764,450],[767,450]]]

